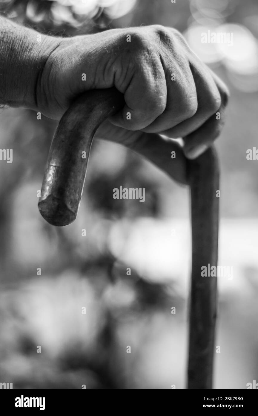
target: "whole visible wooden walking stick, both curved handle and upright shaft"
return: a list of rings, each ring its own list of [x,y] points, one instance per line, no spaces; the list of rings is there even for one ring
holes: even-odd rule
[[[114,88],[95,90],[82,94],[63,115],[49,151],[38,204],[50,224],[63,226],[75,220],[95,131],[123,102],[122,94]],[[201,267],[217,267],[219,169],[215,149],[187,161],[187,168],[192,201],[187,388],[212,389],[217,282],[216,277],[202,277]]]

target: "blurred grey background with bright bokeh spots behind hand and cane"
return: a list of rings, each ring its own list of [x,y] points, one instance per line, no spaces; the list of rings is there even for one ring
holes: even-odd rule
[[[246,159],[258,143],[257,1],[2,0],[0,10],[59,36],[175,27],[228,85],[217,141],[218,264],[233,266],[234,278],[218,279],[214,388],[258,381],[258,162]],[[234,45],[201,43],[207,30],[233,32]],[[185,389],[188,189],[121,146],[96,140],[78,219],[52,227],[39,214],[37,191],[55,128],[33,111],[0,110],[0,148],[13,149],[13,163],[0,162],[0,382],[14,389]],[[145,203],[114,200],[120,185],[146,188]]]

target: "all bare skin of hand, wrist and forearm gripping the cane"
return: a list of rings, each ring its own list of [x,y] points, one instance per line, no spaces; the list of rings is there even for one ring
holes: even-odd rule
[[[160,158],[160,149],[180,152],[178,144],[160,134],[183,137],[187,158],[202,154],[219,136],[228,90],[177,30],[152,25],[72,38],[41,35],[38,42],[34,30],[1,17],[0,23],[2,103],[26,106],[59,120],[79,94],[116,87],[124,94],[124,108],[100,126],[97,137],[141,149],[141,154],[151,142],[157,166],[161,162],[155,154]],[[8,52],[10,44],[15,58]],[[8,72],[19,73],[15,85],[15,75],[9,79]]]

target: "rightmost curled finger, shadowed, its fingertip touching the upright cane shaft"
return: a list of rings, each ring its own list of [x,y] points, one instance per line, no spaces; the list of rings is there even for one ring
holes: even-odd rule
[[[200,156],[221,133],[225,122],[229,92],[219,77],[214,77],[221,96],[221,106],[199,129],[184,137],[183,152],[189,159]]]

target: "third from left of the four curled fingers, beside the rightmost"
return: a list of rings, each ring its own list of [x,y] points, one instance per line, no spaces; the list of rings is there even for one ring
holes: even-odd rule
[[[172,129],[162,131],[168,137],[184,137],[197,130],[219,109],[221,97],[216,82],[208,68],[198,62],[190,64],[192,77],[197,91],[198,108],[196,113]]]

